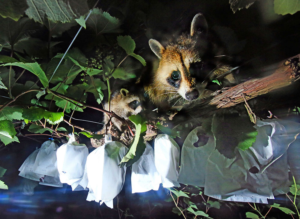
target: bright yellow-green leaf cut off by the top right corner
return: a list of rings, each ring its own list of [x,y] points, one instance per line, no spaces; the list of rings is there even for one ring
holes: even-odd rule
[[[294,14],[300,10],[300,0],[274,0],[274,11],[277,14]]]

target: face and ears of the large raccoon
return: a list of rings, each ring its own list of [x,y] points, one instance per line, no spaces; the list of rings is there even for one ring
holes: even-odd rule
[[[164,94],[174,94],[174,97],[181,96],[193,101],[205,90],[205,76],[210,70],[202,62],[202,51],[207,49],[207,42],[199,40],[199,35],[204,35],[206,28],[206,21],[199,13],[193,18],[190,34],[182,35],[176,43],[164,48],[158,41],[149,40],[150,48],[160,59],[155,84],[165,87]]]

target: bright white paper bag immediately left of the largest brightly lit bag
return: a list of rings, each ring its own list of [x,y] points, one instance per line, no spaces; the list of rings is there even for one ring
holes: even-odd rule
[[[63,144],[56,151],[60,182],[71,185],[74,190],[83,178],[87,157],[88,148],[85,144],[76,143],[72,134],[68,143]]]

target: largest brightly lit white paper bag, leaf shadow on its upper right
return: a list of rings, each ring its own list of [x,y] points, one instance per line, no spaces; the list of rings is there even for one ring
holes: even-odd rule
[[[113,198],[122,190],[126,167],[119,163],[128,148],[120,142],[111,141],[110,134],[105,136],[105,143],[92,151],[86,160],[88,176],[88,196],[86,200],[104,202],[113,208]]]

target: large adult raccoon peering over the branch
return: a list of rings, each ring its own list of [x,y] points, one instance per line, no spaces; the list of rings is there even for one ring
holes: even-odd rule
[[[168,102],[176,99],[184,102],[208,97],[212,91],[206,89],[207,83],[231,69],[220,62],[223,54],[218,54],[220,48],[208,40],[206,29],[206,20],[198,13],[192,20],[190,33],[182,34],[166,47],[149,40],[159,65],[152,81],[145,85],[145,92],[158,107],[166,104],[169,107]],[[232,74],[224,78],[231,83],[235,81]]]

